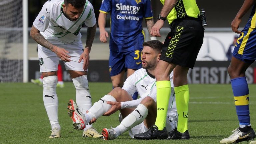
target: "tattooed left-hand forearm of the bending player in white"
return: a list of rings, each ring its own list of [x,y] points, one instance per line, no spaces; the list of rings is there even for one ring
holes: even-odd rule
[[[43,35],[40,34],[40,31],[36,29],[34,26],[32,26],[30,31],[30,36],[32,39],[34,39],[38,44],[48,48],[49,50],[53,51],[54,45],[51,44],[49,41],[47,41]],[[53,51],[54,52],[54,51]]]

